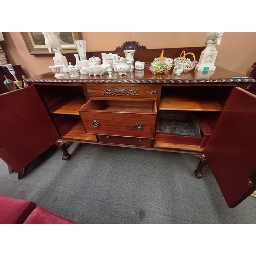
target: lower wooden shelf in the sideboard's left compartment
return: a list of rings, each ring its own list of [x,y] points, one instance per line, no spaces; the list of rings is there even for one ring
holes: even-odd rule
[[[74,124],[74,126],[71,127],[71,129],[66,134],[62,135],[62,139],[97,142],[97,138],[95,134],[86,134],[81,121]]]

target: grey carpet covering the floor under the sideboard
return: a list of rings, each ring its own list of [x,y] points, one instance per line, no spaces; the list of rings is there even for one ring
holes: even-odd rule
[[[256,223],[256,198],[228,208],[208,166],[196,179],[194,155],[68,143],[52,146],[9,174],[0,159],[0,194],[36,202],[79,223]]]

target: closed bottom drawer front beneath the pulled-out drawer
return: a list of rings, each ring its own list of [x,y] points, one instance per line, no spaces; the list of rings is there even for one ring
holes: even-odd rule
[[[117,145],[131,145],[131,146],[142,146],[151,147],[152,139],[145,138],[134,138],[134,137],[121,137],[121,136],[110,136],[110,135],[98,135],[99,142],[117,144]]]

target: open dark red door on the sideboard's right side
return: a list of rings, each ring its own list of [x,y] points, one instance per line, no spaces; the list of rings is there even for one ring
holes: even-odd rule
[[[255,95],[233,88],[204,154],[230,208],[256,190]]]

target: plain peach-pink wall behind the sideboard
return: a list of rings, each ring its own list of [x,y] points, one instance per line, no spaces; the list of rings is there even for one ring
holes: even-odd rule
[[[205,35],[206,32],[82,32],[87,51],[106,52],[126,41],[137,41],[148,49],[204,46]],[[9,63],[22,65],[28,77],[49,72],[52,55],[30,55],[20,32],[3,32],[3,36],[1,46]],[[256,61],[256,32],[225,32],[216,49],[215,65],[249,76]]]

